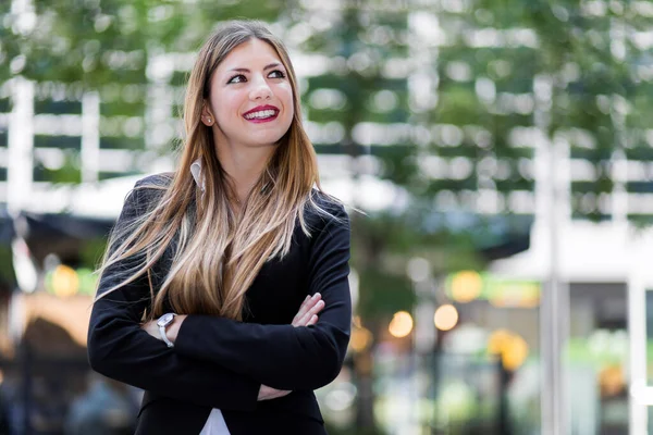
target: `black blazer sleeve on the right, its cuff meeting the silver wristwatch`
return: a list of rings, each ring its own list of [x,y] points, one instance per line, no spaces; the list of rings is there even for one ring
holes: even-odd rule
[[[180,355],[217,362],[279,389],[316,389],[341,371],[349,341],[349,220],[338,206],[311,238],[309,294],[325,302],[316,325],[260,325],[188,315],[177,334]]]

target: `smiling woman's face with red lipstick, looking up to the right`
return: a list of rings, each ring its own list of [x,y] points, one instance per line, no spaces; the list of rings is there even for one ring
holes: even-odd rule
[[[210,78],[202,122],[213,126],[218,144],[272,146],[288,130],[293,88],[276,51],[257,38],[243,42]]]

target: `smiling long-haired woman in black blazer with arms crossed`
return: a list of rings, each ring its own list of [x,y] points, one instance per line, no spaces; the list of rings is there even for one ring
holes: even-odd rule
[[[312,390],[349,339],[348,217],[263,24],[205,44],[184,123],[177,171],[136,183],[110,238],[90,364],[146,390],[137,434],[324,434]]]

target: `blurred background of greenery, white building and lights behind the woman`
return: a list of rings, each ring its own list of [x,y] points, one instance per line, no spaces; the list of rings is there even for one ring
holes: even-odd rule
[[[233,17],[287,44],[350,207],[331,434],[653,433],[650,0],[0,1],[0,433],[133,433],[93,270]]]

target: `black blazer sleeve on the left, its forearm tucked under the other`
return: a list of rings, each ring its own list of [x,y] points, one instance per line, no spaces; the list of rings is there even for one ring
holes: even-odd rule
[[[146,191],[139,192],[136,184],[125,200],[116,228],[128,225],[143,212],[138,197],[145,197]],[[109,249],[115,247],[116,243]],[[108,268],[100,277],[98,295],[119,283],[115,272],[130,265],[127,259]],[[147,276],[94,303],[88,331],[90,366],[108,377],[167,397],[211,408],[254,410],[259,383],[214,363],[180,355],[140,328],[149,303]]]

